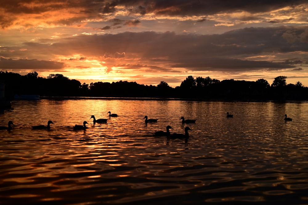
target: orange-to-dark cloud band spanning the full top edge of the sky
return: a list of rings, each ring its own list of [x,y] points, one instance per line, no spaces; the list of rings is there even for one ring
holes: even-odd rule
[[[36,15],[34,18],[49,24],[78,25],[89,19],[104,18],[104,14],[114,14],[123,8],[126,8],[132,14],[138,13],[142,15],[205,16],[239,10],[252,14],[258,12],[268,13],[286,6],[294,8],[301,4],[304,5],[303,7],[307,7],[307,1],[305,0],[43,0],[39,1],[39,3],[37,0],[4,0],[1,1],[0,25],[2,28],[9,27],[18,17],[25,16],[24,18],[27,19],[26,15]],[[51,20],[48,19],[49,17]],[[249,19],[249,17],[246,17],[246,19]],[[274,19],[270,23],[281,23],[290,20],[291,18],[285,20]],[[303,18],[303,20],[307,21],[306,18]]]

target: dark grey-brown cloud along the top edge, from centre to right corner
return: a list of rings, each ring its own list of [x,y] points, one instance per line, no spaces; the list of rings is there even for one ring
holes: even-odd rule
[[[156,15],[209,15],[220,12],[230,12],[243,10],[250,13],[268,12],[270,10],[277,10],[285,6],[296,6],[306,3],[304,0],[259,0],[259,1],[245,1],[245,0],[170,0],[170,1],[117,1],[118,4],[124,3],[126,5],[137,6],[136,11],[141,14],[155,13]]]

